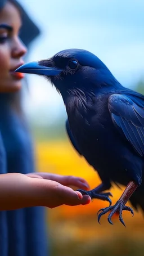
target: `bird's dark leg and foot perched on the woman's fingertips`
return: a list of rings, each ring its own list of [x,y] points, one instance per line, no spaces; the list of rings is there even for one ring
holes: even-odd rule
[[[79,189],[77,191],[82,193],[82,195],[91,196],[91,199],[97,198],[97,199],[101,199],[104,201],[109,201],[109,203],[111,205],[111,199],[109,198],[109,196],[112,196],[112,194],[110,192],[101,193],[102,191],[108,190],[110,187],[111,187],[110,182],[103,182],[99,186],[94,188],[93,190],[86,191],[86,190]]]

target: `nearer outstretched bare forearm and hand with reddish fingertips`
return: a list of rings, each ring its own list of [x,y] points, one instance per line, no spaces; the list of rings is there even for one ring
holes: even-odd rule
[[[83,196],[70,187],[44,179],[37,174],[31,177],[21,173],[0,176],[0,210],[15,210],[30,206],[55,208],[62,204],[89,204],[91,197]]]

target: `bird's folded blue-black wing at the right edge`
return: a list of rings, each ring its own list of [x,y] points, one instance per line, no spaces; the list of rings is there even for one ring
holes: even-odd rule
[[[144,109],[131,96],[113,94],[108,99],[111,118],[140,156],[144,155]]]

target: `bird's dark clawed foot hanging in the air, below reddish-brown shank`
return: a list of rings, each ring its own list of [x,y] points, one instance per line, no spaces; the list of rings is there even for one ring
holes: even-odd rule
[[[113,206],[109,206],[109,207],[106,207],[106,208],[102,208],[98,211],[98,213],[100,211],[102,211],[101,213],[97,213],[98,215],[98,222],[100,223],[100,218],[102,215],[104,215],[105,213],[109,212],[111,210],[111,213],[109,214],[109,216],[107,217],[107,221],[109,221],[110,224],[113,224],[113,222],[111,221],[111,217],[114,215],[114,213],[118,212],[119,213],[119,220],[120,222],[122,222],[122,224],[125,226],[124,224],[124,221],[123,221],[123,217],[122,217],[122,212],[123,210],[128,210],[129,212],[132,213],[132,215],[134,214],[133,213],[133,209],[129,206],[125,206],[123,201],[122,200],[118,200],[116,202],[115,205]]]

